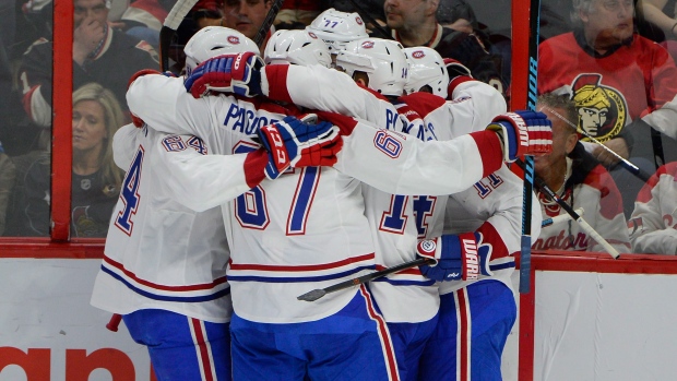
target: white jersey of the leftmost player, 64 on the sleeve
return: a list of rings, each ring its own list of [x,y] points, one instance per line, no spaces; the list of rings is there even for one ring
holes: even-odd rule
[[[92,305],[121,314],[154,308],[228,322],[229,251],[221,210],[189,206],[248,190],[244,167],[254,155],[207,156],[211,148],[199,138],[132,124],[118,130],[112,146],[127,175]]]

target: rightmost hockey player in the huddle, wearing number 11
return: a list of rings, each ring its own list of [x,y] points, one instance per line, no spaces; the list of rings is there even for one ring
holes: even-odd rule
[[[461,63],[443,60],[430,48],[405,50],[409,59],[409,95],[401,99],[426,123],[437,121],[436,139],[471,133],[485,122],[483,119],[504,112],[500,93],[475,81]],[[453,73],[451,81],[448,67]],[[421,349],[417,380],[500,379],[503,345],[516,317],[510,276],[514,270],[511,254],[520,250],[522,180],[503,166],[465,191],[449,199],[438,198],[437,203],[444,212],[443,219],[436,211],[427,219],[428,229],[419,233],[425,233],[426,238],[438,237],[443,228],[444,235],[419,243],[420,254],[435,252],[444,258],[449,250],[465,252],[470,248],[471,254],[476,250],[484,261],[477,276],[438,284],[439,318]],[[539,209],[534,207],[530,215],[537,231]],[[446,279],[446,271],[421,270],[429,277]]]

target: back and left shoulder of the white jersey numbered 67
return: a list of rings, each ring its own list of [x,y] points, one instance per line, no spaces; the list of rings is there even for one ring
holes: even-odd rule
[[[151,127],[200,135],[215,154],[256,150],[258,129],[298,112],[262,97],[194,99],[181,80],[162,75],[139,78],[128,102]],[[145,107],[138,108],[142,104]],[[331,294],[313,303],[296,297],[373,269],[360,187],[330,167],[289,169],[222,205],[231,249],[228,279],[238,315],[259,322],[309,321],[349,302],[354,291]],[[207,198],[199,202],[214,205]]]

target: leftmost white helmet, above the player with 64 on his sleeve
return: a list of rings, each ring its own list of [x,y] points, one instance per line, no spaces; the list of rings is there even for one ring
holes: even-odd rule
[[[261,55],[254,41],[235,29],[224,26],[203,27],[195,32],[183,47],[186,72],[190,73],[210,58],[247,51]]]

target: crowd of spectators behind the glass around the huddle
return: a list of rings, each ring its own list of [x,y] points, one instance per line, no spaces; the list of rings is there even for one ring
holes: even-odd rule
[[[128,80],[157,69],[159,28],[175,2],[74,0],[72,237],[106,236],[123,175],[111,138],[131,120]],[[171,70],[180,72],[182,46],[199,28],[223,25],[253,38],[271,5],[198,1],[170,46]],[[543,1],[539,105],[556,142],[536,171],[620,252],[677,253],[675,7]],[[510,99],[510,1],[286,0],[269,36],[305,28],[329,8],[359,13],[373,37],[459,60]],[[0,21],[0,236],[48,236],[50,162],[58,159],[50,155],[52,1],[1,0]],[[562,213],[544,194],[539,201],[544,216]],[[602,250],[571,221],[544,227],[534,248]]]

